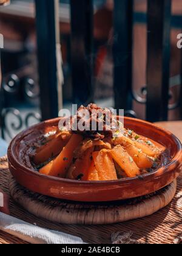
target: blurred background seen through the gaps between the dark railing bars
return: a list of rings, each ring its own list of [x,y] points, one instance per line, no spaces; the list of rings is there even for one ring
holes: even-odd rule
[[[121,0],[122,1],[122,0]],[[113,90],[113,51],[116,35],[113,34],[113,0],[93,0],[93,95],[94,101],[104,107],[115,107]],[[177,48],[177,35],[182,33],[182,3],[172,0],[170,23],[170,98],[172,105],[179,101],[181,84],[181,49]],[[18,90],[4,92],[3,108],[16,108],[22,119],[16,120],[18,112],[7,113],[3,137],[10,140],[19,130],[36,123],[41,115],[39,98],[39,75],[37,58],[35,2],[33,0],[11,0],[11,4],[0,9],[1,34],[4,35],[4,49],[1,52],[3,83],[9,87],[18,84]],[[43,28],[42,28],[43,29]],[[72,54],[70,1],[59,1],[59,32],[63,59],[64,85],[63,106],[70,108],[76,102],[72,87]],[[49,49],[47,49],[49,51]],[[139,91],[141,99],[146,97],[147,68],[147,0],[133,3],[133,71],[132,88]],[[45,56],[46,58],[46,56]],[[126,53],[127,59],[127,53]],[[14,74],[12,76],[12,74]],[[83,91],[84,94],[84,91]],[[79,102],[78,102],[79,103]],[[82,103],[82,102],[80,102]],[[146,105],[133,101],[132,115],[146,119]],[[30,116],[29,116],[30,113]],[[32,115],[34,113],[35,115]],[[17,114],[17,115],[16,115]],[[12,115],[12,117],[10,117]],[[28,115],[28,118],[27,118]],[[180,119],[180,110],[169,111],[170,120]],[[15,118],[15,124],[13,124]],[[29,119],[29,120],[28,120]],[[29,124],[28,124],[29,123]],[[6,127],[6,128],[7,128]],[[9,130],[9,132],[7,132]]]

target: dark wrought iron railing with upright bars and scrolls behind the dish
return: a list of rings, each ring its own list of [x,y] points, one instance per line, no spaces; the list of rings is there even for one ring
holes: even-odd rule
[[[54,118],[62,107],[58,4],[58,0],[35,0],[41,119]],[[135,91],[132,87],[133,0],[114,0],[115,107],[124,108],[126,115],[136,117],[132,110],[134,100],[146,104],[147,120],[164,121],[167,120],[169,110],[179,106],[182,109],[182,87],[180,101],[169,105],[172,97],[169,85],[171,0],[147,0],[147,5],[147,85],[142,85],[140,91]],[[73,102],[87,104],[94,101],[93,1],[70,0],[70,6]],[[16,90],[14,78],[12,76],[1,91]],[[7,108],[1,115],[2,130],[6,129],[5,116],[9,112],[19,120],[18,126],[12,124],[13,129],[18,129],[22,123],[28,126],[32,116],[40,119],[38,114],[30,113],[22,121],[17,110]],[[2,135],[4,136],[4,132]]]

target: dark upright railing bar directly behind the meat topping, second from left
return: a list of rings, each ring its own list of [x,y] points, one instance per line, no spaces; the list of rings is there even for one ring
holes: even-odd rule
[[[93,102],[93,1],[71,0],[73,102]]]

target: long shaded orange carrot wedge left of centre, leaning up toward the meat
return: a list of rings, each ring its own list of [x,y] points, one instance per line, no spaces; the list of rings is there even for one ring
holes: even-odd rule
[[[73,151],[78,147],[83,137],[78,134],[73,134],[69,142],[62,149],[58,157],[53,160],[52,168],[49,171],[50,176],[65,177],[67,169],[73,161]]]

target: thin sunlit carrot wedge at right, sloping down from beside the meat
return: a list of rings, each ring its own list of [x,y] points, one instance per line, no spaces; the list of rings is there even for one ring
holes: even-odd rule
[[[128,146],[129,144],[132,144],[136,148],[141,149],[141,151],[143,151],[144,154],[148,155],[149,157],[155,157],[155,155],[156,155],[156,152],[153,151],[150,148],[150,146],[147,146],[147,145],[145,145],[143,143],[140,143],[139,141],[131,140],[130,138],[128,138],[126,136],[121,136],[121,137],[115,138],[113,143],[115,145],[121,144],[123,146],[125,146],[125,145]]]

